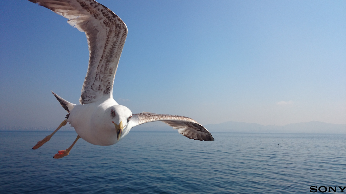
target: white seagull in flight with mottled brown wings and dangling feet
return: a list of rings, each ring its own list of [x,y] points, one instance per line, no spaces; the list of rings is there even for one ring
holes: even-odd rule
[[[72,104],[52,91],[68,114],[58,128],[37,142],[33,149],[48,142],[67,122],[78,136],[69,148],[58,151],[53,158],[69,155],[79,138],[94,145],[109,146],[118,143],[131,128],[154,121],[164,122],[190,139],[214,140],[206,128],[189,117],[148,112],[132,114],[129,108],[113,99],[114,77],[126,40],[127,26],[110,9],[94,0],[29,1],[69,19],[67,23],[85,33],[89,46],[89,66],[80,104]]]

